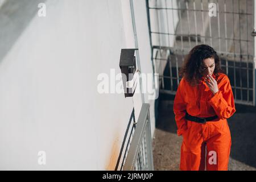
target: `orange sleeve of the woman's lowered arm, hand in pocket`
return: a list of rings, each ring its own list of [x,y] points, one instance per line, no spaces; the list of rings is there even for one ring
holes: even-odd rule
[[[182,78],[174,98],[174,114],[178,136],[182,135],[183,132],[187,130],[187,120],[185,119],[187,103],[184,100],[184,96],[184,78]]]

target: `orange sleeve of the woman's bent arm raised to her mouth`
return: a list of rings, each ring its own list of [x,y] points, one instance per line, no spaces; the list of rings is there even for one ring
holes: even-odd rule
[[[236,112],[229,78],[226,76],[224,79],[224,84],[208,101],[220,119],[229,118]]]

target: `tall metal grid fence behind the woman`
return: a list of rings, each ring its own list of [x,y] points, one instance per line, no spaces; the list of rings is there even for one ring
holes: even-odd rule
[[[184,56],[197,44],[208,44],[221,58],[235,102],[255,105],[253,0],[147,0],[146,3],[152,61],[154,71],[159,73],[161,93],[176,93]],[[209,10],[214,5],[216,16],[210,16]]]

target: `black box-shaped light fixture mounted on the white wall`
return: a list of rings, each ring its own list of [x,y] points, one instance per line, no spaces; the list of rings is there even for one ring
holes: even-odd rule
[[[125,97],[133,97],[137,86],[137,80],[134,77],[136,71],[135,50],[138,49],[121,49],[119,67],[123,74],[122,80]]]

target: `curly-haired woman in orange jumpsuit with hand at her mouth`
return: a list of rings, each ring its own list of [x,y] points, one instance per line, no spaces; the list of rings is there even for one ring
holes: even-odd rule
[[[226,119],[236,108],[220,58],[212,47],[196,46],[180,75],[174,100],[177,135],[183,136],[180,169],[228,170],[231,136]]]

